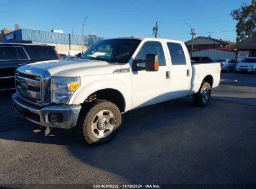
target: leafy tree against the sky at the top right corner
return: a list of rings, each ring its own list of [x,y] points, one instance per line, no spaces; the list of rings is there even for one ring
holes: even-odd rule
[[[237,42],[247,37],[256,35],[256,1],[250,5],[243,4],[240,9],[235,9],[230,14],[237,22]]]

